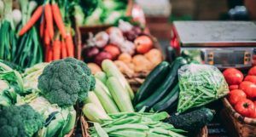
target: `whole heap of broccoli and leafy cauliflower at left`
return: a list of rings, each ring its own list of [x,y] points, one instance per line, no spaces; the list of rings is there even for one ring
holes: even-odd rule
[[[7,61],[0,61],[1,136],[61,137],[71,132],[77,118],[73,105],[95,88],[86,64],[67,58],[20,74],[3,62]]]

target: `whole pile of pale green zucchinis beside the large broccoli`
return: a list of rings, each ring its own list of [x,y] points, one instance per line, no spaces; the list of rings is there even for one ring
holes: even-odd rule
[[[96,74],[96,86],[84,100],[83,112],[91,121],[101,123],[107,113],[133,112],[133,91],[111,60],[102,62],[102,77]]]

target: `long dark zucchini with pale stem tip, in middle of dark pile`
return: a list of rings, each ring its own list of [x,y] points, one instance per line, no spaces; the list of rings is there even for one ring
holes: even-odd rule
[[[150,110],[154,104],[160,101],[168,91],[172,90],[172,88],[177,84],[177,70],[187,64],[187,60],[182,57],[178,57],[174,62],[172,62],[172,69],[166,76],[165,81],[160,84],[160,87],[154,91],[154,94],[151,94],[147,100],[143,100],[141,103],[137,104],[135,107],[137,111],[141,110],[144,106],[147,107],[146,111]]]

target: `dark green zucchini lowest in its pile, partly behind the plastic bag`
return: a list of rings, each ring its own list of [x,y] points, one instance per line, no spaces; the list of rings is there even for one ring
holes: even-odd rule
[[[174,107],[177,107],[179,88],[178,84],[172,88],[172,91],[167,94],[164,100],[161,100],[155,104],[152,108],[154,111],[172,111]]]

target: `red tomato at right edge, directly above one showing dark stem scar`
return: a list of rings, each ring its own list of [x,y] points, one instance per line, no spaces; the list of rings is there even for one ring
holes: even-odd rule
[[[256,84],[243,81],[239,85],[239,88],[247,94],[247,98],[252,99],[256,97]]]

